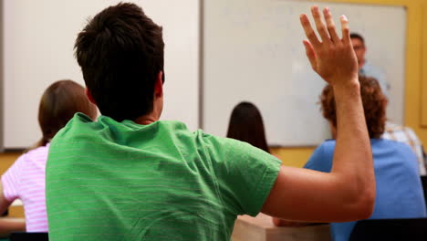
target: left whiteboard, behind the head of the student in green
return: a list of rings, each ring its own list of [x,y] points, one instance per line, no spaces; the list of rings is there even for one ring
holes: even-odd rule
[[[58,79],[84,84],[74,58],[78,32],[89,16],[116,0],[5,0],[4,126],[6,149],[26,148],[41,138],[37,122],[40,97]],[[162,120],[198,127],[199,0],[130,1],[163,26],[165,41]]]

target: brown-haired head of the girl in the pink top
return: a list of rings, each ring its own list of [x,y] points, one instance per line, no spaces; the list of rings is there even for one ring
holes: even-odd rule
[[[97,108],[87,98],[85,88],[72,80],[59,80],[43,93],[38,107],[38,123],[42,140],[37,146],[46,145],[76,112],[95,119]]]

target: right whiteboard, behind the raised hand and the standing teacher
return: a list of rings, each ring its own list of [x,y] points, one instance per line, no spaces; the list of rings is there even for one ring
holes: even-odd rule
[[[299,15],[313,2],[203,1],[203,129],[224,136],[234,106],[248,100],[261,110],[270,145],[318,145],[329,137],[319,111],[325,86],[309,67]],[[328,5],[349,17],[365,37],[366,58],[391,83],[388,117],[402,123],[406,10],[386,5]],[[392,27],[391,27],[392,26]]]

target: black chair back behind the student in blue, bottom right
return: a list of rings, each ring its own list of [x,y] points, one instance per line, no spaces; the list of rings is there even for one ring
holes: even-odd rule
[[[427,240],[427,218],[359,221],[349,241]]]

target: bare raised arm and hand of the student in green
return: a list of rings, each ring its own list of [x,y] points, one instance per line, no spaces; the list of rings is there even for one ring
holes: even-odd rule
[[[349,24],[341,17],[342,38],[332,16],[312,7],[318,34],[301,16],[309,41],[304,41],[312,68],[334,89],[338,136],[331,173],[282,166],[262,212],[286,220],[345,222],[370,216],[375,200],[370,139],[359,94],[358,63],[349,38]]]

